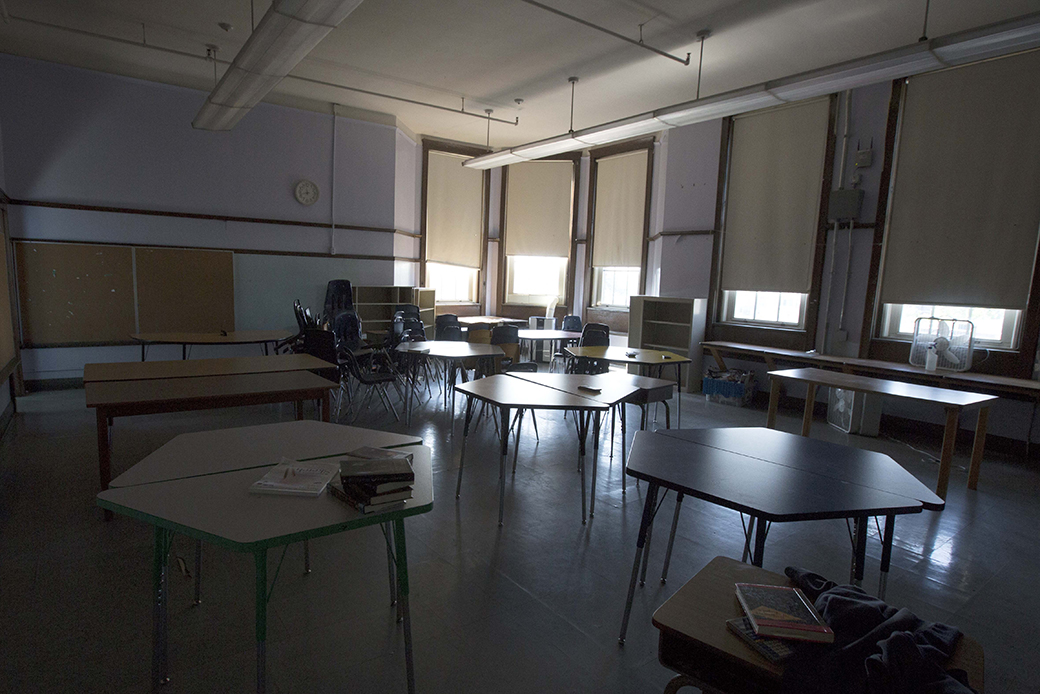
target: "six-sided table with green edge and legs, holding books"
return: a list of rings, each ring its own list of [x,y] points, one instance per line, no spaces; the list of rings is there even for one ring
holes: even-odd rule
[[[161,453],[161,456],[153,458],[156,456],[153,454],[141,461],[148,463],[144,472],[138,473],[134,471],[134,468],[131,468],[113,481],[113,485],[108,490],[98,494],[98,505],[101,508],[144,520],[155,526],[152,609],[153,689],[159,688],[168,679],[166,656],[167,572],[170,550],[175,533],[210,542],[232,551],[253,554],[256,565],[257,692],[264,692],[267,601],[274,587],[268,588],[267,586],[267,550],[279,546],[284,547],[293,542],[387,523],[392,528],[395,547],[392,558],[395,565],[395,582],[391,583],[391,597],[392,601],[395,598],[398,619],[404,626],[408,691],[410,693],[415,691],[409,611],[408,556],[404,521],[409,516],[426,513],[433,509],[433,472],[430,448],[421,445],[399,446],[402,452],[413,454],[413,468],[415,470],[413,496],[411,499],[393,505],[387,511],[365,515],[328,493],[317,497],[251,494],[249,487],[262,477],[262,468],[274,465],[277,458],[281,457],[280,452],[277,451],[279,444],[264,445],[261,440],[267,438],[269,443],[282,437],[278,436],[277,433],[271,435],[270,431],[259,432],[258,430],[311,423],[322,422],[284,422],[218,432],[201,432],[201,435],[210,437],[210,443],[216,447],[214,453],[207,453],[205,448],[200,449],[196,445],[184,445],[183,442],[175,443],[171,451],[164,452],[166,446],[163,446],[156,452],[156,454]],[[344,445],[349,446],[345,449],[353,449],[357,445],[387,445],[391,443],[390,440],[379,443],[379,439],[385,439],[387,436],[399,436],[338,425],[324,425],[324,427],[350,431],[327,430],[322,433],[322,437],[337,449],[327,447],[329,453],[323,455],[321,453],[310,456],[297,455],[297,458],[315,459],[341,455],[345,452],[342,447]],[[295,433],[303,432],[301,430],[301,432]],[[366,437],[364,433],[374,436]],[[222,440],[222,434],[227,438]],[[183,435],[171,443],[185,436],[198,435]],[[233,447],[233,442],[241,442],[242,440],[258,441],[259,443],[253,446],[252,455],[256,456],[255,460],[266,462],[251,467],[241,467],[243,463],[248,462],[244,454],[237,459],[219,460],[219,448],[230,449]],[[181,446],[181,453],[178,453],[178,446]],[[306,449],[306,453],[311,454],[320,448],[321,445],[312,444]],[[304,447],[290,453],[298,454],[301,451],[304,451]],[[200,456],[206,456],[218,462],[213,463],[208,471],[200,472],[200,465],[196,461]],[[137,477],[131,475],[131,472]],[[152,479],[150,482],[145,482],[145,480],[159,474],[165,475],[166,479]],[[123,486],[116,486],[116,482]],[[277,581],[277,579],[278,571],[276,571],[272,581]]]

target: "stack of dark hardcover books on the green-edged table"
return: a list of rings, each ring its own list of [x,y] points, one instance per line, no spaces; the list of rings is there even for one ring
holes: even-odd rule
[[[391,509],[412,498],[412,454],[364,446],[339,461],[339,482],[329,490],[361,513]]]

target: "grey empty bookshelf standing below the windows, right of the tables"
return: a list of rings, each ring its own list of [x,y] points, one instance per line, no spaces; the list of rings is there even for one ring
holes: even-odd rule
[[[667,350],[693,360],[685,370],[686,392],[701,390],[701,342],[706,299],[632,297],[628,307],[628,346]]]

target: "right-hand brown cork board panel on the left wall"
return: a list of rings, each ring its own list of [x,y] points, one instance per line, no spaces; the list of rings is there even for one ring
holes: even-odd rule
[[[229,251],[135,249],[141,333],[235,329],[234,262]]]

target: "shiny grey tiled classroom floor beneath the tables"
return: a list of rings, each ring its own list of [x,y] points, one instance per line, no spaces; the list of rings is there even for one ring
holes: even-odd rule
[[[19,409],[0,441],[0,690],[147,691],[150,529],[125,517],[101,520],[94,504],[94,416],[82,390],[36,393],[20,399]],[[684,396],[682,409],[686,428],[762,426],[765,419],[760,410],[693,395]],[[801,413],[782,415],[781,428],[797,431]],[[264,406],[118,419],[113,473],[180,433],[291,416],[288,406]],[[458,445],[452,455],[447,421],[435,397],[417,409],[410,428],[434,449],[437,499],[433,512],[407,523],[419,691],[661,691],[671,675],[657,663],[650,616],[712,557],[739,557],[738,515],[693,499],[683,504],[670,580],[648,581],[638,591],[628,642],[619,648],[645,486],[630,483],[622,496],[620,459],[612,462],[604,453],[596,517],[582,526],[572,423],[542,413],[540,441],[524,425],[499,529],[494,429],[486,423],[471,439],[457,503]],[[407,429],[378,406],[359,423]],[[934,482],[936,463],[903,443],[848,437],[823,422],[813,435],[887,453]],[[913,441],[935,455],[938,443]],[[616,454],[618,446],[620,431]],[[946,510],[896,523],[888,599],[981,641],[990,692],[1037,692],[1040,473],[991,455],[979,491],[967,492],[968,452],[958,453]],[[669,498],[659,517],[671,518],[672,508]],[[872,535],[869,589],[880,555],[876,531]],[[654,543],[651,573],[660,570],[664,544]],[[183,538],[175,554],[191,565]],[[270,552],[269,575],[280,554]],[[268,691],[404,691],[402,641],[389,607],[379,530],[314,541],[311,554],[313,572],[304,575],[302,548],[289,547],[271,594]],[[849,558],[842,521],[791,523],[771,532],[765,567],[796,564],[840,581]],[[203,566],[201,606],[192,605],[193,581],[172,576],[172,680],[164,691],[251,691],[252,558],[207,547]]]

